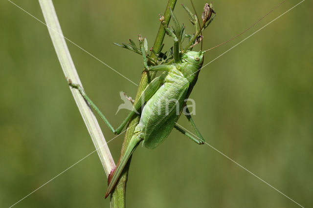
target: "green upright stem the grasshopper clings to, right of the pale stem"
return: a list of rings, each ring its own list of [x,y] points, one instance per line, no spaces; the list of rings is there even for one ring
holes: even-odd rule
[[[170,14],[170,10],[169,8],[171,8],[172,10],[174,10],[175,4],[176,4],[177,0],[169,0],[167,5],[166,5],[166,9],[164,12],[164,23],[166,25],[168,25],[169,21],[171,20],[171,14]],[[154,43],[154,50],[158,51],[159,48],[161,47],[163,40],[164,40],[164,36],[165,36],[165,29],[162,23],[160,23],[157,35],[156,35],[156,41]],[[151,58],[156,60],[156,55],[154,53],[151,53]],[[148,62],[148,65],[151,65],[151,62]],[[152,79],[154,79],[154,77],[156,76],[156,72],[147,72],[146,70],[144,70],[141,74],[141,79],[139,82],[139,86],[138,86],[138,90],[137,90],[137,94],[136,94],[136,98],[135,98],[135,102],[137,102],[137,100],[139,99],[142,91],[146,88],[146,86],[150,83],[150,81]],[[126,135],[125,135],[125,139],[123,142],[123,146],[122,146],[122,150],[121,150],[121,154],[125,153],[126,147],[128,146],[132,136],[134,135],[134,129],[136,127],[136,125],[139,123],[139,119],[140,116],[139,115],[135,115],[130,122],[128,123],[128,127],[127,127],[127,131],[126,131]],[[126,183],[127,183],[127,178],[128,178],[128,170],[129,170],[129,165],[131,162],[131,158],[129,159],[127,165],[125,166],[123,173],[121,174],[119,181],[117,182],[116,187],[113,190],[113,193],[118,192],[118,193],[125,193],[125,188],[126,188]],[[125,204],[124,204],[125,205]],[[122,207],[119,207],[122,208]]]

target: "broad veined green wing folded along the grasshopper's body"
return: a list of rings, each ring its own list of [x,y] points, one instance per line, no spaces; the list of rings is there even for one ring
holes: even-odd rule
[[[189,82],[179,77],[177,82],[164,83],[147,102],[141,114],[140,122],[146,126],[144,144],[155,148],[172,131],[179,119]]]

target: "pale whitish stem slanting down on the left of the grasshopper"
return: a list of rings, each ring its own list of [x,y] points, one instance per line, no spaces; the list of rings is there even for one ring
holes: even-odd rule
[[[67,48],[67,44],[65,42],[65,37],[63,36],[60,23],[58,21],[52,0],[39,0],[41,9],[43,11],[43,15],[45,18],[45,22],[54,46],[54,49],[57,53],[58,59],[61,63],[61,67],[63,69],[64,75],[67,79],[71,79],[73,83],[80,84],[82,87],[82,83],[79,79],[77,71],[75,69],[73,60],[70,56],[70,53]],[[86,103],[84,98],[80,95],[78,90],[69,87],[74,100],[77,104],[77,107],[83,117],[85,125],[89,131],[92,142],[97,150],[98,156],[100,158],[101,164],[105,170],[106,175],[108,176],[115,167],[112,155],[110,153],[109,147],[107,146],[107,142],[103,136],[101,128],[91,111],[91,108]],[[124,197],[120,195],[113,194],[111,200],[111,206],[117,207],[115,204],[118,200],[124,201]]]

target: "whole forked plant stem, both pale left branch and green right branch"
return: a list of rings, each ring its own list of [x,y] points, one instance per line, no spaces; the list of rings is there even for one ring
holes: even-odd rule
[[[168,25],[171,15],[169,12],[169,8],[174,10],[175,4],[177,0],[169,0],[165,9],[164,18],[165,23]],[[55,51],[57,53],[58,59],[61,63],[63,72],[65,74],[65,77],[67,79],[71,79],[73,83],[80,84],[82,86],[82,83],[79,79],[79,76],[77,74],[77,71],[75,69],[74,63],[71,59],[70,53],[67,48],[67,44],[65,42],[65,38],[63,36],[60,23],[58,21],[52,0],[39,0],[41,9],[43,11],[45,22],[53,43],[53,46],[55,48]],[[154,49],[157,51],[164,40],[165,36],[165,30],[162,25],[162,23],[159,26],[157,35],[156,35],[156,41],[154,44]],[[156,55],[154,53],[151,53],[150,57],[153,59],[156,59]],[[149,65],[151,65],[151,62],[148,62]],[[141,95],[142,91],[146,88],[148,83],[156,76],[156,72],[146,72],[144,71],[141,75],[139,87],[137,90],[135,101],[138,100],[139,96]],[[83,87],[83,86],[82,86]],[[91,139],[93,141],[94,146],[97,149],[100,161],[102,163],[102,166],[104,167],[105,173],[108,176],[111,172],[111,170],[115,167],[114,161],[112,159],[112,155],[110,153],[110,150],[106,144],[105,138],[102,134],[102,131],[100,129],[100,126],[92,113],[89,105],[86,103],[86,101],[83,99],[83,97],[80,95],[78,90],[73,89],[69,87],[72,95],[75,99],[75,102],[79,108],[79,111],[84,119],[85,125],[88,128],[89,134],[91,136]],[[123,154],[126,150],[126,146],[129,144],[130,139],[132,138],[134,134],[134,128],[135,125],[137,125],[139,122],[139,116],[134,116],[132,120],[129,122],[126,131],[125,140],[123,142],[121,153]],[[125,207],[125,188],[126,188],[126,182],[127,182],[127,175],[129,170],[129,164],[125,166],[124,171],[114,188],[112,194],[111,194],[111,207],[112,208],[124,208]]]

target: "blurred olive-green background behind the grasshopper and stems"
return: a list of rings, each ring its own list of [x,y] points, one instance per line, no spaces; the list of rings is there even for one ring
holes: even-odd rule
[[[213,2],[217,17],[203,49],[245,30],[281,0]],[[14,0],[44,20],[38,1]],[[138,34],[152,46],[166,0],[54,0],[64,35],[138,83],[141,57],[112,42]],[[205,63],[290,9],[287,0],[240,38],[205,55]],[[179,0],[175,13],[193,27]],[[201,14],[204,0],[195,0]],[[313,2],[304,1],[202,69],[191,98],[206,141],[304,207],[313,207]],[[94,150],[68,89],[45,25],[0,2],[0,207],[25,195]],[[166,37],[164,49],[172,45]],[[113,126],[127,115],[119,91],[136,86],[68,42],[89,97]],[[197,48],[198,50],[198,48]],[[107,141],[114,135],[99,120]],[[179,124],[188,125],[181,117]],[[121,135],[109,143],[117,161]],[[108,207],[107,179],[96,153],[15,207]],[[135,151],[127,186],[129,208],[293,208],[278,193],[207,145],[179,132],[156,149]]]

